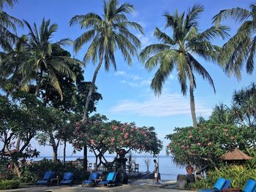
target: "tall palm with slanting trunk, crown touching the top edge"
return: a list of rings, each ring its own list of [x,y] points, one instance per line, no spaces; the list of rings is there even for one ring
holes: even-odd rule
[[[131,65],[131,55],[137,53],[137,48],[140,47],[140,40],[129,31],[129,28],[134,28],[143,34],[143,28],[138,23],[129,21],[125,15],[134,10],[131,4],[124,3],[119,6],[117,0],[104,0],[103,4],[104,14],[102,17],[89,12],[86,15],[76,15],[70,20],[70,26],[78,23],[81,28],[88,29],[78,39],[75,39],[75,52],[78,52],[87,42],[91,42],[83,58],[83,62],[85,64],[90,60],[94,63],[99,62],[95,69],[91,88],[86,99],[83,121],[86,121],[88,115],[89,101],[91,100],[97,73],[102,63],[104,63],[106,71],[109,70],[110,65],[113,65],[116,70],[114,53],[118,49],[121,50],[124,60]]]

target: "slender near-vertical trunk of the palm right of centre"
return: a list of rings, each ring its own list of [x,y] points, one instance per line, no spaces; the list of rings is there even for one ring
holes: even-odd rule
[[[194,78],[190,66],[188,67],[189,71],[189,96],[190,96],[190,110],[192,115],[193,127],[197,128],[197,117],[195,115],[195,98],[194,98]]]

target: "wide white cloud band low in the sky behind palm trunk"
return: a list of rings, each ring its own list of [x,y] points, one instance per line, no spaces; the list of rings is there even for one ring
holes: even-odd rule
[[[211,115],[211,109],[200,101],[196,102],[197,115]],[[144,101],[123,100],[110,108],[110,112],[129,113],[145,117],[167,117],[173,115],[190,115],[189,99],[181,94],[163,93],[162,96],[149,96]]]

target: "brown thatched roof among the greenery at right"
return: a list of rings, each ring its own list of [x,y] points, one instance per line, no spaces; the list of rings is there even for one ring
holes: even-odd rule
[[[243,151],[235,148],[233,151],[229,151],[222,155],[222,160],[227,161],[228,163],[241,163],[246,160],[252,159],[251,156],[246,155]]]

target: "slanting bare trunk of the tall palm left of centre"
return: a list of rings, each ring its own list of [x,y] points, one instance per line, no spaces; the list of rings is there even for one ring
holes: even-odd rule
[[[103,53],[99,56],[99,64],[98,64],[97,68],[95,69],[94,77],[92,78],[92,81],[91,81],[91,88],[90,88],[90,91],[89,91],[88,96],[86,98],[86,106],[84,107],[84,112],[83,112],[83,120],[82,120],[83,122],[85,122],[86,118],[87,118],[89,104],[90,104],[90,101],[91,101],[91,95],[94,92],[95,81],[96,81],[97,74],[99,72],[100,66],[102,66],[102,61],[103,61]]]

